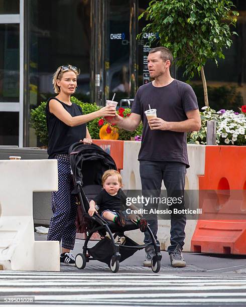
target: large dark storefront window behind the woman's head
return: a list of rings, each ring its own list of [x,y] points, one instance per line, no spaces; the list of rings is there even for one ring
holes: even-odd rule
[[[52,76],[60,65],[80,69],[76,98],[89,102],[90,1],[29,1],[28,95],[30,108],[54,95]],[[29,145],[37,139],[30,129]]]

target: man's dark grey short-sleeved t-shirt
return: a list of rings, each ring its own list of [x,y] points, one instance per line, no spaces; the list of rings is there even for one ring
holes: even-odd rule
[[[143,121],[142,144],[139,160],[182,162],[189,167],[185,132],[151,130],[145,111],[157,109],[157,117],[166,121],[183,121],[186,112],[198,109],[196,95],[192,87],[174,79],[163,87],[155,87],[152,82],[140,86],[131,112],[140,114]]]

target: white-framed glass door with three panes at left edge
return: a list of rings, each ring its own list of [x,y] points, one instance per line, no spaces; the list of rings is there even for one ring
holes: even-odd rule
[[[0,145],[23,146],[24,0],[0,1]]]

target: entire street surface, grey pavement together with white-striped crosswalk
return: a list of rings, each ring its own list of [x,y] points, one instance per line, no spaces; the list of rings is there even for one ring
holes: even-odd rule
[[[35,239],[45,240],[46,235],[35,233]],[[82,251],[83,242],[76,240],[74,255]],[[115,274],[99,261],[90,261],[83,270],[1,271],[0,306],[246,305],[246,256],[183,253],[187,266],[173,268],[168,253],[162,254],[157,274],[143,267],[144,250],[121,262]],[[15,299],[20,302],[13,304]]]

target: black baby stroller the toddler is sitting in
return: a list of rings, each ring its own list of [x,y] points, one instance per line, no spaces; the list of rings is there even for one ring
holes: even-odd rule
[[[116,273],[119,269],[119,262],[130,257],[137,250],[153,245],[156,255],[152,259],[151,267],[153,272],[159,272],[162,258],[160,243],[155,240],[149,226],[147,226],[147,231],[150,233],[152,242],[139,245],[124,234],[125,231],[138,229],[138,226],[131,220],[127,220],[125,227],[120,227],[114,222],[105,220],[97,213],[94,213],[92,217],[88,214],[89,201],[102,189],[103,173],[107,170],[117,170],[111,156],[96,144],[87,145],[81,142],[70,146],[69,155],[75,186],[73,194],[77,195],[80,203],[82,219],[86,219],[89,224],[83,252],[77,254],[75,258],[77,268],[83,269],[90,260],[99,260],[107,263],[110,270]],[[92,248],[88,248],[88,241],[95,232],[100,234],[101,240]],[[110,238],[106,236],[106,233]],[[117,236],[125,239],[124,243],[120,244],[120,240],[115,242]]]

